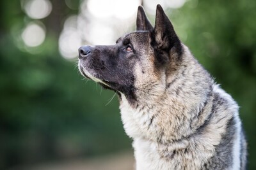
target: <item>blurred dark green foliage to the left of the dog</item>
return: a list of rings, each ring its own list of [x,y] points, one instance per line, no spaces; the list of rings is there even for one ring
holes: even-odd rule
[[[105,106],[113,92],[85,83],[76,61],[60,56],[60,30],[49,26],[40,53],[22,52],[10,30],[26,15],[19,1],[1,1],[1,8],[1,24],[10,24],[0,31],[0,169],[131,148],[118,100]]]

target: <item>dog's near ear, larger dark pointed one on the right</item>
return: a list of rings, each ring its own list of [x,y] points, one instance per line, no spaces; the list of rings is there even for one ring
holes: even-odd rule
[[[156,25],[152,31],[155,41],[155,47],[158,50],[171,50],[175,47],[175,51],[181,53],[180,40],[173,29],[173,25],[164,13],[160,4],[157,4],[156,9]]]

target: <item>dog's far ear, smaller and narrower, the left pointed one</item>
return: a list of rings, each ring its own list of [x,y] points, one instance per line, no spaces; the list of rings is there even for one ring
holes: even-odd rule
[[[148,21],[147,15],[145,14],[142,6],[138,7],[136,24],[137,31],[152,31],[154,29]]]

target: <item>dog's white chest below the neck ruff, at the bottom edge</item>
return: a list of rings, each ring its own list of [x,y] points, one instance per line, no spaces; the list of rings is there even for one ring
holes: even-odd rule
[[[184,152],[186,149],[182,147],[186,148],[186,146],[180,145],[180,150],[172,150],[144,139],[134,139],[132,146],[135,152],[136,170],[202,169],[202,162],[209,157],[209,155],[202,157],[202,153]]]

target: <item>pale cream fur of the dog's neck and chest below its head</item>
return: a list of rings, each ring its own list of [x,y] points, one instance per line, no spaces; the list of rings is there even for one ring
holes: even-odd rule
[[[160,81],[136,87],[138,103],[131,106],[121,96],[122,122],[134,139],[137,169],[201,167],[212,156],[232,117],[233,110],[229,115],[216,113],[211,119],[218,86],[188,48],[183,48],[182,64],[177,69],[163,71]]]

